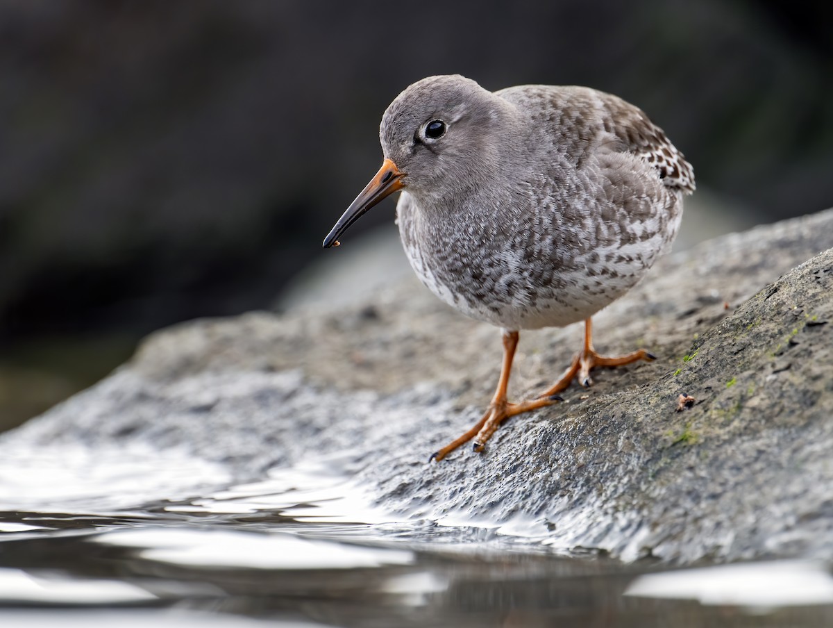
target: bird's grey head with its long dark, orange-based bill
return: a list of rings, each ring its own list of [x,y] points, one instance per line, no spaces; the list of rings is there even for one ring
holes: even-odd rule
[[[514,143],[513,106],[459,74],[423,78],[382,116],[385,161],[324,246],[388,194],[407,188],[426,206],[452,205],[494,178]]]

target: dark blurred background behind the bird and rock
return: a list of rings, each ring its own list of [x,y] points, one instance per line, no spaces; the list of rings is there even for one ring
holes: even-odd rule
[[[827,208],[829,11],[6,0],[0,425],[92,384],[153,329],[275,303],[376,171],[387,104],[430,74],[616,93],[686,153],[702,198],[760,223]]]

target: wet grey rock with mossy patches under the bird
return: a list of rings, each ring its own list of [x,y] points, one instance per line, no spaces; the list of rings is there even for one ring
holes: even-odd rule
[[[427,462],[490,398],[500,335],[410,278],[354,305],[153,334],[110,378],[2,436],[0,455],[186,446],[239,478],[327,457],[402,518],[624,560],[830,559],[831,247],[828,210],[661,260],[595,319],[597,349],[659,359],[594,372],[591,389],[508,421],[483,455]],[[546,387],[580,339],[577,325],[521,334],[511,396]],[[680,394],[695,402],[678,409]]]

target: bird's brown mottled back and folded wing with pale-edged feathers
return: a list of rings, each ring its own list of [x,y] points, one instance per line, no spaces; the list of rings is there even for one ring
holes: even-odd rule
[[[576,85],[521,85],[495,93],[531,118],[576,162],[587,151],[631,153],[656,169],[668,188],[694,191],[694,169],[666,133],[636,105]]]

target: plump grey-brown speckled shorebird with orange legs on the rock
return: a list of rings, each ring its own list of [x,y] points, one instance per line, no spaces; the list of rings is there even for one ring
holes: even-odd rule
[[[590,317],[642,278],[676,236],[691,165],[639,108],[590,88],[524,85],[491,93],[460,76],[425,78],[387,108],[385,163],[325,239],[404,188],[397,205],[414,271],[440,299],[504,329],[505,359],[482,420],[435,455],[507,417],[552,403],[602,358]],[[519,329],[586,320],[585,346],[540,398],[506,401]]]

